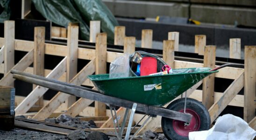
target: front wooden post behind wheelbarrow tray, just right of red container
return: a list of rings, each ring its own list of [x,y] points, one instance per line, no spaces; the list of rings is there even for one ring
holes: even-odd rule
[[[164,40],[163,42],[163,59],[174,69],[174,40]]]

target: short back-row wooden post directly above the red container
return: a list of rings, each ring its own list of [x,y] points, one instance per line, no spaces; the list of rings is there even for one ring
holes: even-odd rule
[[[152,48],[153,30],[142,30],[142,48]]]

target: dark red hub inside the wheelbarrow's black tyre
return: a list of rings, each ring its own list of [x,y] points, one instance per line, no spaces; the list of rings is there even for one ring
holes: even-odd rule
[[[179,112],[184,112],[184,109]],[[172,122],[174,131],[184,137],[188,137],[189,132],[198,131],[200,127],[200,117],[198,113],[191,109],[186,109],[186,113],[192,115],[189,125],[185,125],[184,121],[179,120],[173,120]]]

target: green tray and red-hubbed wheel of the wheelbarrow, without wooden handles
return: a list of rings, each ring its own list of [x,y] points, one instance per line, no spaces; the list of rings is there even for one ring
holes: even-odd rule
[[[174,69],[172,74],[158,76],[110,79],[109,74],[103,74],[88,77],[104,95],[162,107],[215,72],[218,71],[210,68],[188,68]],[[208,130],[210,127],[211,119],[207,109],[195,99],[180,98],[166,108],[192,115],[190,122],[162,117],[164,135],[170,140],[187,140],[189,132]]]

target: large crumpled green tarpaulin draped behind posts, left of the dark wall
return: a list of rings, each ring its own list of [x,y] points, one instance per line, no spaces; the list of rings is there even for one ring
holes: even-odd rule
[[[67,27],[70,22],[79,23],[79,36],[89,40],[90,21],[101,21],[101,32],[107,33],[107,41],[114,42],[114,27],[118,26],[113,14],[101,0],[32,0],[36,10],[47,20]]]

